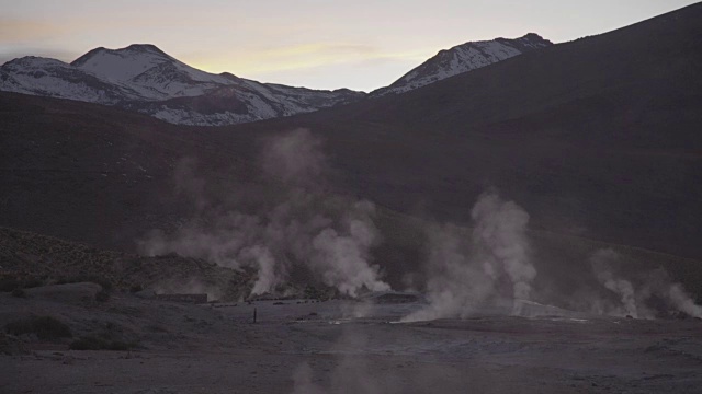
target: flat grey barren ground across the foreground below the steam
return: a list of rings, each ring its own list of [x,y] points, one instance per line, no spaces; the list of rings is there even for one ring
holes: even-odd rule
[[[699,393],[702,322],[499,309],[400,323],[421,302],[202,305],[93,283],[0,294],[0,324],[53,316],[72,337],[3,337],[3,393]],[[253,323],[253,311],[257,322]],[[532,311],[533,312],[533,311]],[[129,350],[71,350],[101,335]]]

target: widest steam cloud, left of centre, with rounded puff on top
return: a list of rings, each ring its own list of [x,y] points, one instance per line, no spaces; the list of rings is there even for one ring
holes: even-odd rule
[[[178,171],[179,187],[194,194],[201,217],[173,234],[151,233],[140,243],[141,252],[174,252],[231,268],[253,267],[258,279],[252,294],[273,291],[299,267],[349,296],[364,288],[389,290],[378,267],[370,264],[371,247],[381,240],[373,223],[375,207],[324,193],[327,165],[320,146],[305,129],[264,144],[264,181],[275,184],[283,198],[253,213],[208,207],[201,202],[203,181],[192,170]]]

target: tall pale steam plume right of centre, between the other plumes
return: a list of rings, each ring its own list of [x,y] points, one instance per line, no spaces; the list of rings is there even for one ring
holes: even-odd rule
[[[471,236],[451,224],[430,231],[429,305],[403,321],[465,317],[489,302],[530,297],[536,269],[529,259],[529,215],[496,193],[483,194],[471,213]]]

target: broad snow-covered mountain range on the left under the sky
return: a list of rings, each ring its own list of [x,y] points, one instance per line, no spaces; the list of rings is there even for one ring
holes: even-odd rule
[[[290,116],[364,97],[261,83],[192,68],[154,45],[97,48],[70,65],[24,57],[0,67],[0,90],[69,99],[183,125],[220,126]]]

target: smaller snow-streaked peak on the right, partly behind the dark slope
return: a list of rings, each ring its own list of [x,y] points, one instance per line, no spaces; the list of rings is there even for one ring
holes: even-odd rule
[[[485,67],[529,50],[553,45],[540,35],[529,33],[523,37],[496,38],[469,42],[440,50],[434,57],[412,69],[393,84],[371,92],[372,97],[399,94],[428,85],[442,79]]]

